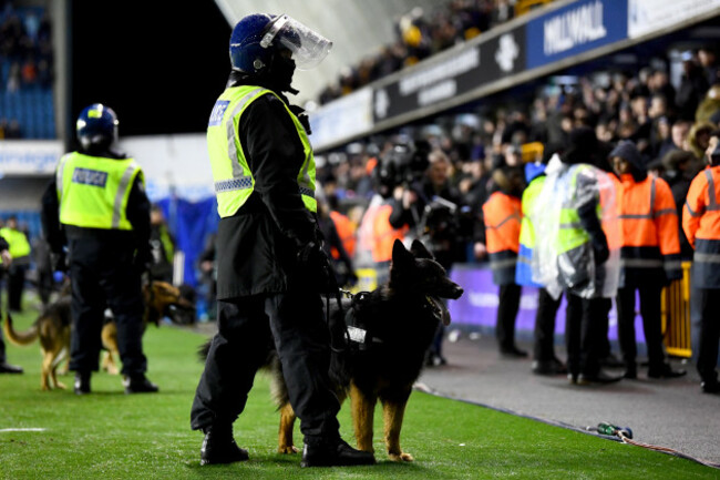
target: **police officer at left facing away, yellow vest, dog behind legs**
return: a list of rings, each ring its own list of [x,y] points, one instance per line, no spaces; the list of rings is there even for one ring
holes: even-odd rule
[[[99,366],[103,313],[110,307],[117,324],[125,392],[155,392],[157,386],[145,377],[142,346],[141,273],[151,259],[143,171],[115,150],[117,116],[107,106],[85,108],[76,133],[80,150],[60,159],[42,200],[43,227],[56,269],[65,265],[68,245],[74,390],[90,392],[90,376]]]

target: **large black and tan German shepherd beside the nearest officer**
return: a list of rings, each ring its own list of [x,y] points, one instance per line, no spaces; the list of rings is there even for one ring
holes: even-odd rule
[[[347,313],[340,319],[346,320],[349,340],[347,348],[332,349],[330,378],[340,401],[350,396],[360,450],[373,451],[373,415],[380,400],[390,460],[413,460],[400,448],[405,405],[440,323],[450,324],[443,299],[457,299],[462,294],[463,289],[448,277],[421,242],[414,241],[408,251],[395,241],[389,282],[343,302],[342,310],[331,307],[336,320]],[[205,353],[208,347],[206,344]],[[278,452],[295,453],[296,416],[277,353],[269,353],[264,368],[271,374],[272,394],[280,410]]]

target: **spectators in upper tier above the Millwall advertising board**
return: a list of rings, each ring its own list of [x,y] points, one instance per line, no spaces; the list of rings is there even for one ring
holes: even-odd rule
[[[511,0],[452,0],[431,12],[415,8],[394,24],[395,40],[376,55],[347,67],[319,95],[321,104],[348,94],[514,17]]]

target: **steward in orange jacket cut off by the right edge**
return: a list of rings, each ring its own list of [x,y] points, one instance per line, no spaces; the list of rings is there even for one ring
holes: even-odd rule
[[[692,296],[700,308],[698,374],[702,391],[720,392],[718,341],[720,341],[720,131],[711,133],[706,159],[710,166],[700,172],[688,191],[682,211],[682,229],[695,248]]]

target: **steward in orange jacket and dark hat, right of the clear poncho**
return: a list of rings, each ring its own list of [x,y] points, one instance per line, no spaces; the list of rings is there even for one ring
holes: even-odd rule
[[[677,211],[670,187],[662,178],[647,174],[645,162],[632,142],[620,142],[610,152],[615,172],[616,204],[623,238],[617,316],[626,378],[637,378],[635,338],[635,292],[640,295],[640,314],[648,349],[651,378],[672,378],[662,349],[662,287],[682,278]]]

